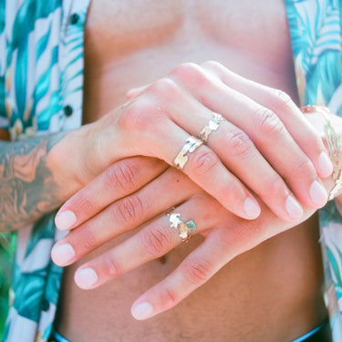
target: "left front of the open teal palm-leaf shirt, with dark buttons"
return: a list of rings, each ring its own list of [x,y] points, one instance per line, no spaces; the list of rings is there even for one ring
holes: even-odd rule
[[[89,0],[0,0],[0,126],[11,140],[81,125]],[[72,114],[72,115],[70,115]],[[47,341],[62,268],[55,212],[19,230],[4,341]]]

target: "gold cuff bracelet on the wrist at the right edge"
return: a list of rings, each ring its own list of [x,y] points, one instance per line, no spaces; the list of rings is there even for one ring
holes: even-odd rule
[[[330,161],[332,161],[334,166],[333,180],[335,181],[335,185],[329,193],[329,201],[333,200],[338,192],[342,190],[342,148],[337,139],[337,132],[328,118],[330,110],[323,106],[310,105],[301,107],[300,110],[303,113],[313,113],[316,111],[320,113],[326,121],[324,126],[326,147],[329,152]]]

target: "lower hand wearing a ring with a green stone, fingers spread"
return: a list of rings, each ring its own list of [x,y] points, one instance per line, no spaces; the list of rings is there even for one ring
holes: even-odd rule
[[[153,167],[164,171],[143,186],[152,177],[146,170]],[[120,181],[109,182],[118,175]],[[168,210],[172,206],[175,208]],[[205,236],[202,244],[133,304],[132,315],[146,319],[176,306],[238,254],[299,223],[281,220],[263,203],[261,206],[257,219],[244,220],[223,208],[181,171],[165,169],[160,161],[146,157],[119,161],[76,193],[57,213],[59,228],[63,224],[58,223],[58,216],[74,215],[73,229],[54,246],[52,259],[61,266],[73,264],[122,233],[140,228],[122,243],[78,267],[78,286],[93,289],[201,233]],[[315,211],[305,206],[302,220]]]

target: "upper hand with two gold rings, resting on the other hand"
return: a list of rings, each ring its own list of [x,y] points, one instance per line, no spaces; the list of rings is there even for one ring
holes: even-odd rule
[[[290,222],[302,216],[300,202],[327,200],[320,177],[332,165],[301,111],[285,93],[216,62],[175,67],[86,130],[84,183],[142,155],[177,166],[244,219],[260,214],[253,193]]]

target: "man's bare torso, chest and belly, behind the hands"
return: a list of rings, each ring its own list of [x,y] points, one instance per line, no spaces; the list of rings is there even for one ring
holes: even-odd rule
[[[297,100],[282,0],[93,0],[85,48],[85,123],[125,102],[129,88],[188,61],[217,60]],[[315,215],[235,258],[169,312],[134,320],[132,302],[200,243],[197,236],[165,263],[150,262],[91,291],[74,284],[80,263],[68,267],[57,330],[72,342],[285,342],[326,318]]]

